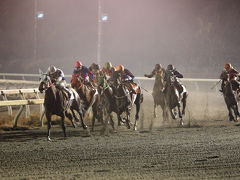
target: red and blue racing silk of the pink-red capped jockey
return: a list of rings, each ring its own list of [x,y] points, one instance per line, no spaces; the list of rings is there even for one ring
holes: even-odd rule
[[[72,83],[75,83],[78,77],[81,77],[85,80],[87,80],[90,77],[92,81],[94,80],[92,72],[86,66],[82,66],[81,70],[77,69],[73,70]]]

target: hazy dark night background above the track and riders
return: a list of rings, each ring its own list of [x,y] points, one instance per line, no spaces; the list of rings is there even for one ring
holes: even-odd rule
[[[97,0],[0,0],[0,72],[38,73],[49,65],[71,74],[76,59],[97,60]],[[109,17],[101,66],[123,64],[135,75],[172,63],[185,77],[218,78],[230,61],[240,69],[238,0],[102,0]]]

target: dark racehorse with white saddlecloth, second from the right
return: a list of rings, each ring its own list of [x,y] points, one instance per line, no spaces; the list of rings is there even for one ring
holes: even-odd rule
[[[178,108],[178,116],[180,118],[180,125],[183,125],[183,115],[185,114],[186,102],[187,102],[187,90],[178,82],[175,76],[169,78],[168,86],[166,89],[166,102],[169,108],[170,114],[173,119],[176,119]],[[181,111],[182,103],[182,111]]]

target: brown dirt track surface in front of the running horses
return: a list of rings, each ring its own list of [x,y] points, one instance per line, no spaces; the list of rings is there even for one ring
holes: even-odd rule
[[[9,131],[0,138],[0,179],[199,179],[240,177],[240,127],[161,127],[109,136],[67,127]]]

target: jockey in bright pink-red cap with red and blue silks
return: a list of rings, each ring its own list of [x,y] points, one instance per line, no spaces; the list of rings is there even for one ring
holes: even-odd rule
[[[76,61],[74,63],[74,70],[72,73],[72,81],[71,84],[75,84],[77,79],[81,77],[84,81],[90,86],[93,87],[92,83],[94,81],[94,76],[92,72],[86,67],[83,66],[80,61]],[[90,79],[89,79],[90,77]]]

